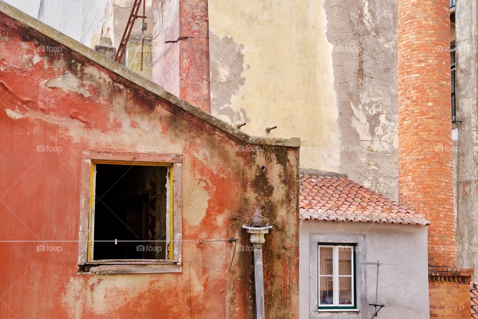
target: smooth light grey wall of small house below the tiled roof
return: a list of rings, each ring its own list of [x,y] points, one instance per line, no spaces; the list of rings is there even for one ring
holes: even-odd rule
[[[393,265],[380,266],[378,303],[385,308],[379,318],[428,319],[428,255],[427,228],[415,225],[338,223],[328,221],[303,221],[299,231],[299,318],[311,318],[310,298],[310,234],[342,234],[344,237],[359,234],[364,237],[366,262]],[[366,301],[375,300],[376,267],[365,267]],[[323,313],[315,318],[371,318],[372,307],[366,306],[358,314]],[[312,317],[314,318],[314,317]]]

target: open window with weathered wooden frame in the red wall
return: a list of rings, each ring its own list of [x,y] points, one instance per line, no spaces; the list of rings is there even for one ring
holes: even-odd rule
[[[181,156],[85,152],[79,271],[181,271]]]

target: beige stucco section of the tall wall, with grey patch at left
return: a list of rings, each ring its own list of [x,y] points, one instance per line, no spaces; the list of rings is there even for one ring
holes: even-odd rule
[[[301,138],[301,167],[339,171],[332,45],[320,1],[209,1],[211,113]]]

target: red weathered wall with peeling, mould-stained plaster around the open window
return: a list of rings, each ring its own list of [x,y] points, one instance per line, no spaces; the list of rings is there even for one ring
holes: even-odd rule
[[[1,13],[0,70],[1,240],[71,241],[0,243],[0,318],[254,317],[252,253],[238,249],[229,271],[233,243],[184,242],[180,274],[77,274],[82,151],[144,146],[183,154],[183,239],[240,247],[231,218],[269,216],[266,317],[297,318],[298,149],[246,148]]]

